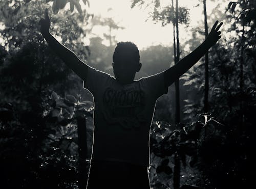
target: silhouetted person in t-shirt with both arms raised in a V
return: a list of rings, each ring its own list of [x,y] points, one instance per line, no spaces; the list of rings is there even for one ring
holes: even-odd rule
[[[57,55],[82,80],[94,97],[94,138],[88,189],[149,189],[150,127],[156,100],[168,92],[183,73],[196,64],[220,38],[222,22],[212,27],[205,41],[175,66],[134,80],[140,71],[139,50],[132,42],[120,42],[113,54],[115,77],[82,62],[49,32],[46,9],[40,32]],[[86,142],[86,141],[84,141]]]

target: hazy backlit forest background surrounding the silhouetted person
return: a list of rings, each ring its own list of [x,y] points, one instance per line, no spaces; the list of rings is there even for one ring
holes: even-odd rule
[[[83,188],[87,180],[93,99],[42,38],[39,20],[46,8],[50,32],[59,42],[111,75],[116,43],[134,39],[143,64],[136,79],[173,66],[203,42],[215,20],[223,21],[221,40],[157,101],[150,140],[151,186],[253,184],[256,2],[127,1],[133,23],[134,10],[147,15],[145,22],[156,23],[151,26],[154,36],[144,41],[128,36],[131,26],[113,16],[109,2],[0,0],[1,188]],[[189,9],[187,2],[193,4]],[[95,14],[97,7],[108,14]],[[195,9],[202,18],[196,23],[190,17]],[[169,33],[163,35],[166,29]],[[145,30],[141,34],[148,36]]]

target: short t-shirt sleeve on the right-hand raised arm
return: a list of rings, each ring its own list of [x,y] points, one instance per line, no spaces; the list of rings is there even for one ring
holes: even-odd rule
[[[168,93],[168,86],[164,85],[164,72],[143,78],[143,83],[156,99]]]

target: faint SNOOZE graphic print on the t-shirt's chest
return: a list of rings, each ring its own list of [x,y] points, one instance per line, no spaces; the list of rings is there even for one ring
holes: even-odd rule
[[[145,93],[141,89],[106,88],[103,94],[104,117],[109,124],[126,129],[139,129],[145,122],[142,114]]]

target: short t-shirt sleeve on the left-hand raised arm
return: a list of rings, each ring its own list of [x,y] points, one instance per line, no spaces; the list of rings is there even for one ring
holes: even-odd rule
[[[106,85],[110,77],[108,73],[88,67],[86,80],[83,80],[83,88],[88,89],[94,95],[100,88]]]

